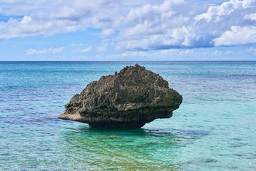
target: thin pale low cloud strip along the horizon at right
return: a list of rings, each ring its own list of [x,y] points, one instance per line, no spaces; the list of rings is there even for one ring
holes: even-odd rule
[[[229,60],[241,60],[241,56],[244,59],[252,58],[256,59],[256,48],[235,48],[230,47],[227,51],[226,48],[194,48],[194,49],[165,49],[158,51],[127,51],[125,53],[116,53],[110,56],[104,56],[103,60],[208,60],[209,57],[214,60],[223,60],[227,58]]]

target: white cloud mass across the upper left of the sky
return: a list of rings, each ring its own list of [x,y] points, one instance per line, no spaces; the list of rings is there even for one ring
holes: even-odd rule
[[[102,28],[106,34],[121,21],[116,0],[108,1],[0,1],[0,15],[10,17],[0,22],[0,38],[16,38],[55,33],[69,33],[86,28]],[[20,17],[23,16],[23,17]]]

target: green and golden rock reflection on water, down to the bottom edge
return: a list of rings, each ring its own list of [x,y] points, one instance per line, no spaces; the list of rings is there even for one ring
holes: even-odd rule
[[[64,130],[68,160],[105,170],[180,170],[178,148],[208,135],[202,130],[101,129],[79,125]]]

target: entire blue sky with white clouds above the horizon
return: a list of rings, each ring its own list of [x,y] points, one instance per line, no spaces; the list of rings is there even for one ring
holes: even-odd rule
[[[0,0],[0,61],[256,61],[256,0]]]

